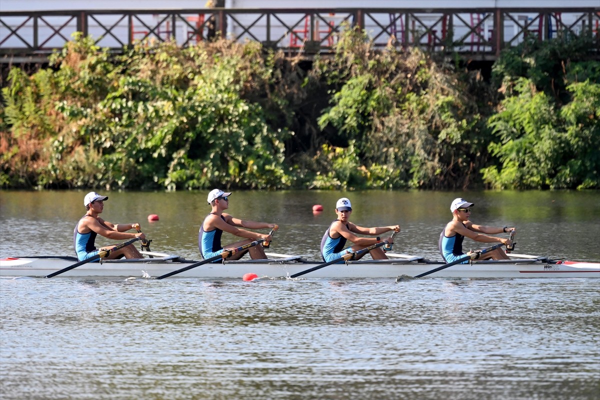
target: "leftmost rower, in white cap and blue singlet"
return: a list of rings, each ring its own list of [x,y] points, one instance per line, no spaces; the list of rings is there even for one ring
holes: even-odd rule
[[[83,205],[87,212],[77,222],[73,231],[73,241],[79,261],[94,257],[101,250],[112,249],[114,247],[114,245],[111,245],[97,249],[95,240],[98,234],[113,240],[133,239],[134,237],[146,238],[146,235],[139,231],[140,224],[137,222],[133,224],[113,224],[100,218],[100,213],[104,211],[104,201],[108,199],[108,196],[101,196],[95,192],[90,192],[83,198]],[[125,232],[131,229],[137,229],[138,233]],[[142,258],[142,254],[134,245],[128,245],[124,248],[111,251],[109,255],[103,258],[113,259],[121,257]]]

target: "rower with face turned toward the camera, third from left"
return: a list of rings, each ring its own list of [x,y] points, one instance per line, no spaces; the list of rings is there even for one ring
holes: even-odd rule
[[[321,240],[321,255],[323,260],[326,262],[341,258],[344,254],[349,252],[356,252],[358,250],[367,248],[368,246],[374,245],[381,242],[382,240],[388,240],[389,244],[394,243],[392,236],[379,237],[380,234],[389,231],[400,231],[400,225],[391,225],[386,227],[372,227],[364,228],[350,222],[350,214],[352,213],[352,204],[346,197],[342,197],[335,204],[335,213],[338,218],[331,222],[327,231],[323,235]],[[360,237],[356,234],[367,234],[370,236],[377,237]],[[349,240],[353,243],[353,246],[346,248],[346,241]],[[359,254],[356,260],[362,258],[364,254]],[[385,255],[381,247],[377,247],[369,251],[373,260],[387,260],[388,256]],[[340,261],[343,263],[344,261]]]

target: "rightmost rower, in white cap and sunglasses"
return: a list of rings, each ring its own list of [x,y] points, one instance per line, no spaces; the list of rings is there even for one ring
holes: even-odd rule
[[[458,258],[464,257],[463,253],[463,240],[464,237],[469,237],[476,242],[483,243],[504,243],[505,246],[512,244],[510,239],[503,237],[489,236],[490,234],[497,233],[509,233],[516,231],[514,227],[509,228],[508,226],[499,227],[488,227],[483,225],[473,224],[469,221],[471,215],[471,207],[475,206],[474,203],[470,203],[460,197],[454,199],[450,205],[450,211],[452,212],[452,221],[446,224],[446,227],[440,234],[439,249],[442,257],[446,263],[452,263]],[[482,254],[479,260],[508,260],[509,257],[506,252],[499,248],[490,251],[486,254]],[[469,260],[463,261],[463,264],[468,263]]]

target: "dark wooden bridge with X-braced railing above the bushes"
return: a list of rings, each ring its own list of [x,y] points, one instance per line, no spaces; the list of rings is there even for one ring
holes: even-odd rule
[[[592,35],[600,59],[600,7],[593,8],[318,8],[195,10],[0,11],[0,62],[44,62],[74,32],[122,52],[140,40],[180,46],[223,35],[256,40],[290,55],[329,53],[343,29],[365,29],[375,46],[416,46],[493,61],[527,38]]]

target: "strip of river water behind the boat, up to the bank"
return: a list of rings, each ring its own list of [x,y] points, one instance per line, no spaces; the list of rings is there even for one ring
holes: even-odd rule
[[[85,213],[85,191],[0,192],[0,256],[73,255],[73,228]],[[199,258],[197,232],[209,212],[206,192],[110,192],[103,218],[140,222],[154,251]],[[400,224],[394,251],[439,259],[437,240],[451,219],[449,204],[462,196],[475,203],[473,221],[516,226],[517,252],[572,260],[600,259],[598,192],[420,192],[420,191],[235,191],[230,213],[276,222],[271,251],[320,259],[320,239],[335,219],[335,201],[352,200],[352,221],[362,226]],[[313,213],[313,204],[325,210]],[[149,214],[159,221],[148,222]],[[107,244],[98,239],[98,244]],[[224,234],[224,241],[233,241]],[[484,246],[470,240],[466,248]]]

